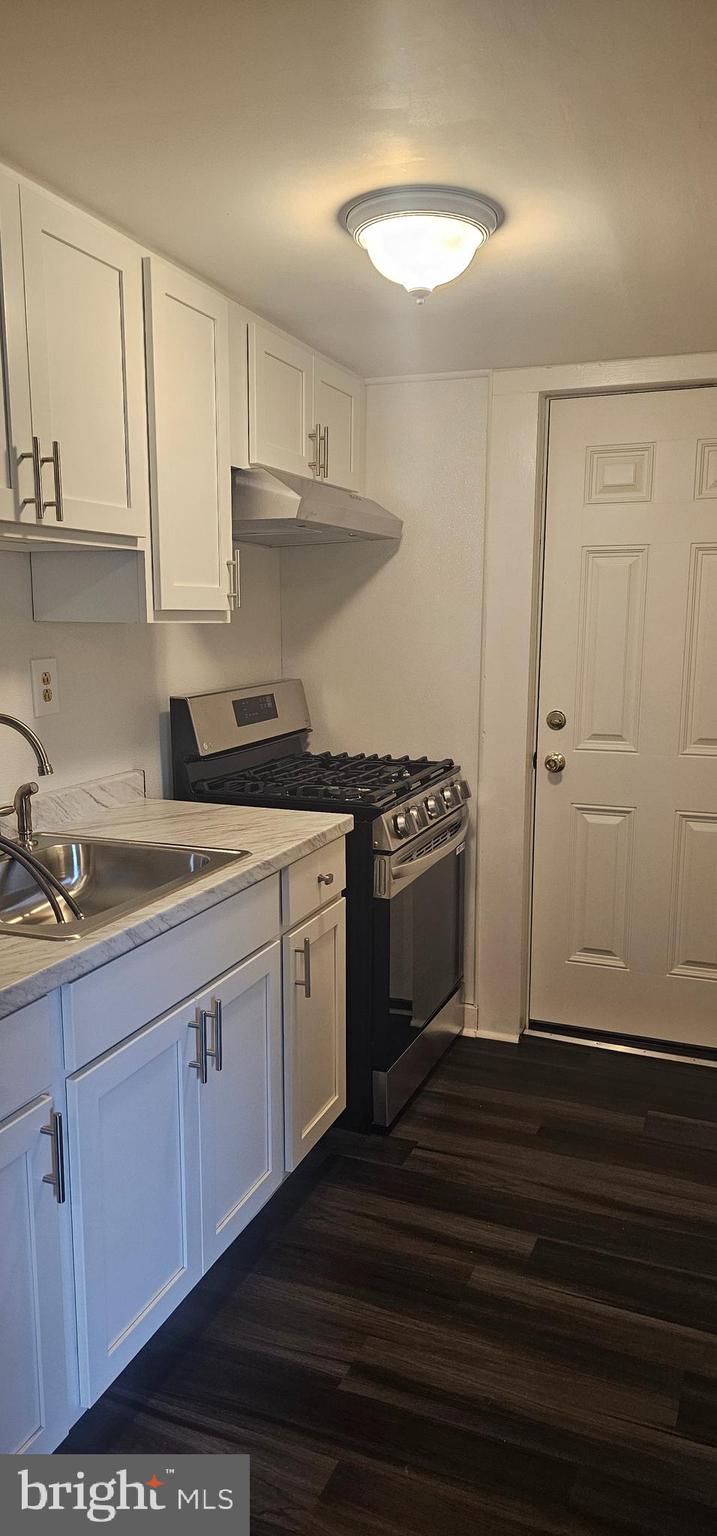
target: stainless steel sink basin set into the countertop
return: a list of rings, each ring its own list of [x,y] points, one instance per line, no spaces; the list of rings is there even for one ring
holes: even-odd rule
[[[58,923],[32,876],[8,857],[0,857],[0,934],[28,938],[83,938],[104,923],[192,885],[204,874],[249,859],[249,852],[216,852],[212,848],[164,848],[160,843],[114,842],[101,837],[63,837],[43,833],[32,848],[81,908],[77,919],[60,897],[66,922]]]

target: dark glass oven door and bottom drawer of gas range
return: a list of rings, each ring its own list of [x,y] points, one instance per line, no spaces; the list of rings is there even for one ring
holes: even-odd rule
[[[462,1028],[465,806],[375,859],[373,1118],[390,1124]]]

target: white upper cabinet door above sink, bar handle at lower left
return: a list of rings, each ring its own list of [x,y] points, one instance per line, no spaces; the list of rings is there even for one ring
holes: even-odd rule
[[[147,533],[141,253],[124,235],[32,187],[20,192],[32,425],[45,501],[95,533]],[[45,521],[55,524],[58,508]]]

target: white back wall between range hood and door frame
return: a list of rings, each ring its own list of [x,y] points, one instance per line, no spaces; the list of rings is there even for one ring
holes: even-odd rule
[[[487,378],[367,390],[367,492],[405,522],[398,551],[281,556],[284,676],[302,677],[313,745],[461,762],[476,791]],[[473,849],[467,1000],[474,1000]]]

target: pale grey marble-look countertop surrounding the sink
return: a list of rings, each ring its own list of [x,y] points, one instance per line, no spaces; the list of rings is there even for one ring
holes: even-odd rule
[[[81,822],[63,820],[51,829],[63,836],[75,833],[226,852],[249,849],[249,859],[201,876],[181,891],[160,895],[135,912],[97,928],[88,938],[61,943],[0,932],[0,1018],[284,869],[315,848],[344,837],[352,826],[353,817],[322,811],[140,799],[83,814]]]

